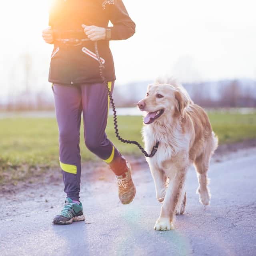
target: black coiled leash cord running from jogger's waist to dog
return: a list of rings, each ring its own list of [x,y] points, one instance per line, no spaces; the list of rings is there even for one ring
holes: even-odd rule
[[[136,146],[138,146],[138,148],[141,150],[141,152],[146,156],[146,157],[152,157],[154,156],[154,154],[156,154],[156,151],[158,149],[158,145],[159,145],[159,142],[156,143],[156,145],[153,147],[150,155],[146,152],[146,150],[144,150],[144,148],[135,140],[125,140],[123,139],[120,135],[119,135],[119,131],[118,131],[118,123],[117,123],[117,115],[116,115],[116,106],[115,106],[115,103],[114,103],[114,100],[112,98],[112,94],[111,94],[111,91],[110,89],[108,88],[108,82],[106,81],[104,75],[103,75],[103,68],[104,68],[104,65],[102,64],[101,60],[100,60],[100,54],[99,54],[99,51],[98,51],[98,44],[97,42],[95,41],[94,42],[94,47],[95,47],[95,53],[97,55],[97,59],[98,59],[98,62],[99,62],[99,65],[100,65],[100,77],[102,78],[103,80],[103,83],[104,85],[106,86],[106,89],[107,89],[107,92],[108,92],[108,97],[110,99],[110,103],[111,103],[111,106],[112,106],[112,110],[113,110],[113,114],[114,114],[114,129],[115,129],[115,133],[116,133],[116,137],[118,138],[118,140],[120,140],[121,142],[123,143],[128,143],[128,144],[135,144]]]

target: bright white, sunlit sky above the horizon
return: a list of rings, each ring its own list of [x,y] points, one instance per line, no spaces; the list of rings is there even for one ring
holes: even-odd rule
[[[0,2],[0,75],[5,94],[24,84],[22,54],[32,56],[32,85],[47,84],[51,45],[42,41],[50,0]],[[118,84],[174,74],[182,81],[256,79],[254,0],[124,0],[136,34],[111,42]]]

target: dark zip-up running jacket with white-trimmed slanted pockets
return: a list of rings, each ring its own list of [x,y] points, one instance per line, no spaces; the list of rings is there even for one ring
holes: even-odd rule
[[[108,27],[111,21],[113,27]],[[110,40],[131,37],[135,24],[130,19],[122,0],[54,0],[50,9],[49,26],[58,31],[57,38],[86,38],[84,32],[70,36],[66,31],[81,30],[82,24],[111,29]],[[109,48],[109,40],[98,41],[100,57],[104,59],[104,76],[107,81],[116,80],[114,62]],[[102,82],[99,63],[93,58],[94,42],[82,45],[54,42],[49,72],[49,82],[57,84],[81,84]]]

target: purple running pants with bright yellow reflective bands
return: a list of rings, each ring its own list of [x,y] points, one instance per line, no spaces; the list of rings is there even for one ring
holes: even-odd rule
[[[114,82],[108,82],[108,86],[113,91]],[[76,86],[53,84],[52,90],[59,128],[60,167],[64,192],[72,200],[79,200],[81,113],[84,118],[84,138],[87,148],[110,164],[116,175],[126,171],[125,160],[105,133],[109,98],[104,84]]]

